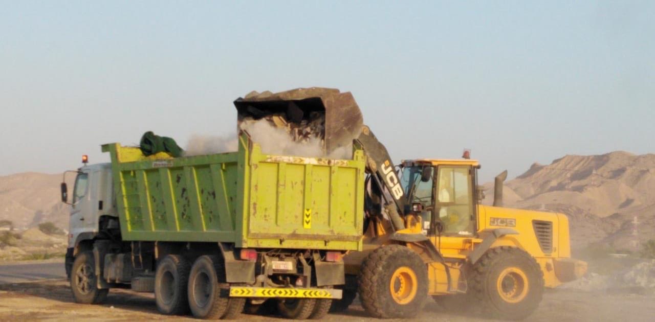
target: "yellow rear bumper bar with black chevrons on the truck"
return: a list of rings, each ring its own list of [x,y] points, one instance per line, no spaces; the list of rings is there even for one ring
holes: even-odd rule
[[[340,299],[340,289],[291,289],[288,287],[230,287],[230,297],[334,298]]]

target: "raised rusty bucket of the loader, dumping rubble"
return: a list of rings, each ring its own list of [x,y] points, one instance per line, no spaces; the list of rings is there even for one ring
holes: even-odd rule
[[[261,118],[267,118],[280,128],[293,124],[291,135],[314,135],[323,139],[326,155],[351,144],[364,125],[362,111],[352,94],[334,88],[250,92],[245,98],[236,99],[234,106],[238,126],[245,120]]]

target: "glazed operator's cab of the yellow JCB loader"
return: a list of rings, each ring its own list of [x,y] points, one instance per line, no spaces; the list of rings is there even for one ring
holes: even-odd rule
[[[401,183],[428,236],[472,237],[477,230],[474,160],[405,160]]]

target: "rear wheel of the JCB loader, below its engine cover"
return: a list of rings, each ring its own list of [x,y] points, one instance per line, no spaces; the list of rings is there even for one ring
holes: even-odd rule
[[[544,275],[529,253],[516,247],[495,247],[473,266],[469,293],[485,316],[521,320],[539,306]]]

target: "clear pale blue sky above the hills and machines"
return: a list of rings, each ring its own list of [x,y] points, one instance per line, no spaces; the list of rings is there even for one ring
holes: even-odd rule
[[[0,175],[146,130],[231,134],[251,90],[350,91],[394,160],[483,181],[655,152],[654,1],[0,1]]]

